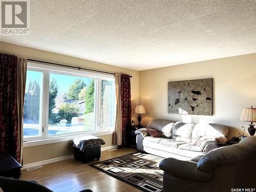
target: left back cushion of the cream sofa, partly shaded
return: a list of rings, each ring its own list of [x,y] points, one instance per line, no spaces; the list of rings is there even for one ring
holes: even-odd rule
[[[175,121],[165,119],[153,119],[147,123],[146,127],[157,130],[163,137],[172,138],[172,131]]]

